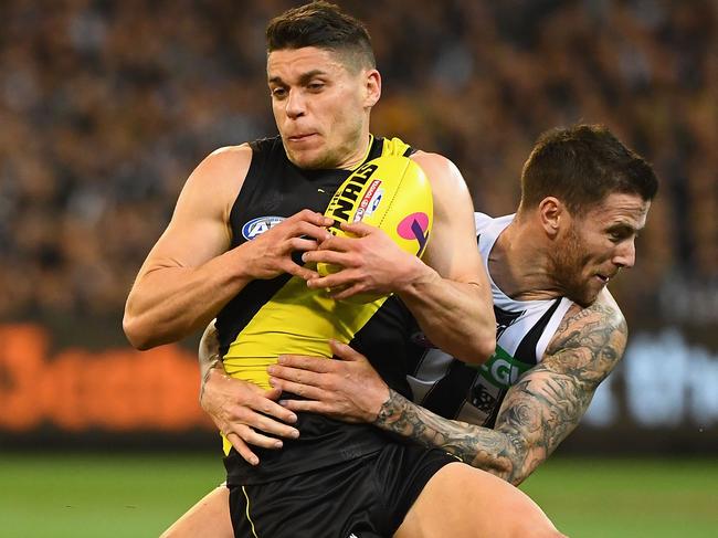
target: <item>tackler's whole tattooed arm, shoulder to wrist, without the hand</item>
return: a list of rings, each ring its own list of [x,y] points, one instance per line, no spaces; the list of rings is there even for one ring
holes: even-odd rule
[[[578,425],[621,359],[626,334],[623,315],[604,292],[591,307],[569,310],[543,360],[507,392],[494,430],[444,419],[394,391],[374,423],[519,484]]]

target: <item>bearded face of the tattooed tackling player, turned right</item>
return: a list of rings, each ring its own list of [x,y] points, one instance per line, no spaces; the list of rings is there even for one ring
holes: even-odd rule
[[[590,305],[622,268],[633,267],[650,207],[638,196],[611,193],[570,219],[552,255],[553,274],[570,299]]]

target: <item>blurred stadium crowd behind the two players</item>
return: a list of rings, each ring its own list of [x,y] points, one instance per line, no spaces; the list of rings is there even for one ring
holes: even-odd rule
[[[275,134],[263,29],[296,3],[2,2],[2,319],[122,312],[192,167]],[[604,123],[662,179],[640,271],[613,287],[626,315],[668,316],[676,282],[718,297],[716,2],[339,3],[373,36],[377,135],[451,157],[500,214],[539,133]]]

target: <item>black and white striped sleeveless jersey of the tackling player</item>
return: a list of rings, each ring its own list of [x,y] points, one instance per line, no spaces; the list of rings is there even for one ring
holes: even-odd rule
[[[475,213],[478,250],[488,273],[488,255],[514,215],[492,219]],[[508,388],[541,361],[561,319],[573,304],[566,297],[515,300],[488,273],[496,315],[496,351],[472,366],[433,348],[415,326],[409,383],[413,400],[447,419],[493,428]]]

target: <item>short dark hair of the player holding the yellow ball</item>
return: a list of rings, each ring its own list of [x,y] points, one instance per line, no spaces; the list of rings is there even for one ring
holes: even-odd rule
[[[267,53],[284,49],[316,46],[348,57],[356,71],[377,65],[371,38],[361,21],[334,3],[317,0],[285,11],[266,29]],[[351,65],[349,65],[351,64]]]

